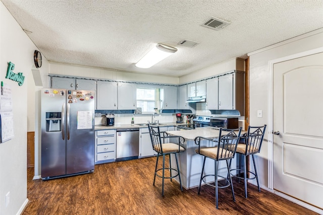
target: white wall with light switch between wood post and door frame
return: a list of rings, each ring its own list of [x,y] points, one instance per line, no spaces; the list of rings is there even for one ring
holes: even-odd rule
[[[313,31],[248,54],[250,56],[250,125],[268,125],[270,123],[270,120],[268,119],[268,114],[270,114],[268,113],[268,101],[270,101],[270,98],[268,97],[269,61],[318,47],[323,47],[323,29]],[[320,83],[322,82],[322,80],[317,81]],[[262,110],[262,118],[257,117],[257,110]],[[272,131],[267,130],[267,134],[268,132],[271,133]],[[265,135],[264,138],[267,140],[268,135]],[[261,152],[256,158],[259,181],[260,184],[265,187],[268,187],[268,147],[270,147],[268,142],[264,141]]]

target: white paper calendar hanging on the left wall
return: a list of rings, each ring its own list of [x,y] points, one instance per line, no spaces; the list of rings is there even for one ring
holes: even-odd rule
[[[0,142],[14,137],[14,114],[12,112],[12,93],[9,85],[1,82],[0,95]]]

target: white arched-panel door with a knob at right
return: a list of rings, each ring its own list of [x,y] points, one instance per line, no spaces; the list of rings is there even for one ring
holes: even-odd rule
[[[274,189],[323,208],[323,52],[273,68]]]

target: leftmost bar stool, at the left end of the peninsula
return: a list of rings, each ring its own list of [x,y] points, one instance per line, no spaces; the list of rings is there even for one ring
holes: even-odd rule
[[[157,153],[155,175],[153,177],[153,185],[155,185],[156,176],[159,178],[162,178],[163,185],[161,188],[161,196],[164,196],[164,180],[165,180],[165,178],[171,179],[171,181],[172,181],[173,178],[178,176],[179,180],[180,180],[181,190],[183,191],[180,168],[178,165],[177,153],[185,152],[185,148],[181,146],[181,144],[183,144],[185,141],[184,137],[182,137],[182,136],[168,136],[168,134],[166,132],[161,132],[162,135],[160,135],[159,126],[148,125],[148,129],[149,129],[149,133],[150,133],[152,149]],[[166,138],[178,138],[179,144],[165,143]],[[175,155],[177,169],[172,168],[171,154]],[[159,155],[163,156],[163,168],[157,169]],[[166,155],[169,155],[169,168],[165,167],[165,156]],[[165,176],[165,170],[170,171],[170,177]],[[159,171],[163,171],[163,175],[159,175],[158,174]],[[172,171],[174,171],[176,173],[176,175],[172,175]]]

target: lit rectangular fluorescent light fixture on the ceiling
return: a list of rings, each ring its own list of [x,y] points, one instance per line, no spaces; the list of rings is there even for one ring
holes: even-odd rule
[[[150,68],[157,62],[165,59],[171,54],[174,54],[176,51],[177,48],[158,43],[136,63],[136,67]]]

